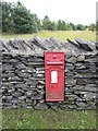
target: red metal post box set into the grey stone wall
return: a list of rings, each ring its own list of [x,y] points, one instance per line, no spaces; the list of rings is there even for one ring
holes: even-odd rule
[[[45,52],[46,102],[64,100],[64,52]]]

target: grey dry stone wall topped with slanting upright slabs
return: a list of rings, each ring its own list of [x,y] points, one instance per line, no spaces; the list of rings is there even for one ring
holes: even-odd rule
[[[34,37],[0,40],[3,108],[95,109],[98,94],[98,51],[96,43]],[[46,103],[44,52],[64,51],[64,102]]]

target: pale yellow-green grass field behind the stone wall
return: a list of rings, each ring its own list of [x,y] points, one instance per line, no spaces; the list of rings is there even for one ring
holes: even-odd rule
[[[34,36],[39,36],[41,38],[44,37],[54,37],[54,38],[60,38],[63,41],[66,41],[66,38],[70,38],[71,40],[74,40],[75,37],[79,37],[83,38],[85,40],[94,40],[96,41],[96,33],[95,32],[90,32],[90,31],[40,31],[36,34],[2,34],[2,36],[0,35],[0,38],[5,38],[5,39],[10,39],[10,38],[16,38],[16,37],[21,37],[21,38],[33,38]]]

